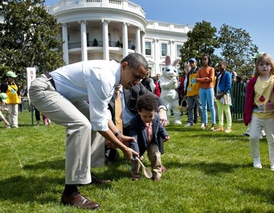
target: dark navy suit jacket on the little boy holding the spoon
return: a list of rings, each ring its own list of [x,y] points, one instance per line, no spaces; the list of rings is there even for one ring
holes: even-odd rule
[[[146,148],[148,148],[148,134],[146,132],[146,128],[143,124],[141,116],[138,114],[133,117],[133,119],[131,119],[129,135],[138,141],[138,143],[131,141],[129,146],[133,148],[133,150],[137,151],[140,156],[143,155],[143,153],[146,151]],[[158,138],[165,138],[165,136],[168,136],[168,133],[165,131],[165,128],[162,126],[162,124],[160,124],[159,116],[156,113],[155,118],[153,119],[153,138],[150,143],[156,143],[160,151],[160,146],[163,146],[163,143],[159,143]]]

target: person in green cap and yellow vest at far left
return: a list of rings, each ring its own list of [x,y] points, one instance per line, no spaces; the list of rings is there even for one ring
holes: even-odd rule
[[[10,125],[6,125],[7,129],[11,127],[18,128],[18,104],[21,104],[21,96],[19,87],[14,82],[17,75],[12,72],[6,72],[6,80],[1,83],[1,92],[5,92],[6,99],[6,120]]]

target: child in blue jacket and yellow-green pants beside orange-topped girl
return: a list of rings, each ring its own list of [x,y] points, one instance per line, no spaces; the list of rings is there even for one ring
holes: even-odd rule
[[[231,133],[231,73],[226,70],[226,62],[220,61],[218,64],[218,75],[214,87],[216,103],[218,107],[219,128],[217,131],[225,131]],[[224,130],[224,113],[226,114],[226,130]]]

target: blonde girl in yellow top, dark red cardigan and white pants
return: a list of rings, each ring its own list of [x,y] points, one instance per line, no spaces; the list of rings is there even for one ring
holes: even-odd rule
[[[274,63],[268,54],[256,60],[256,72],[246,87],[243,121],[250,126],[250,148],[253,167],[261,169],[259,140],[265,129],[268,141],[270,170],[274,171]]]

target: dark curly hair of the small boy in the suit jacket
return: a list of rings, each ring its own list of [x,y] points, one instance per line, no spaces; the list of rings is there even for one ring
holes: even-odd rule
[[[157,111],[158,110],[158,102],[156,97],[153,94],[143,94],[137,100],[137,109],[138,111],[142,111],[142,109],[147,111]]]

